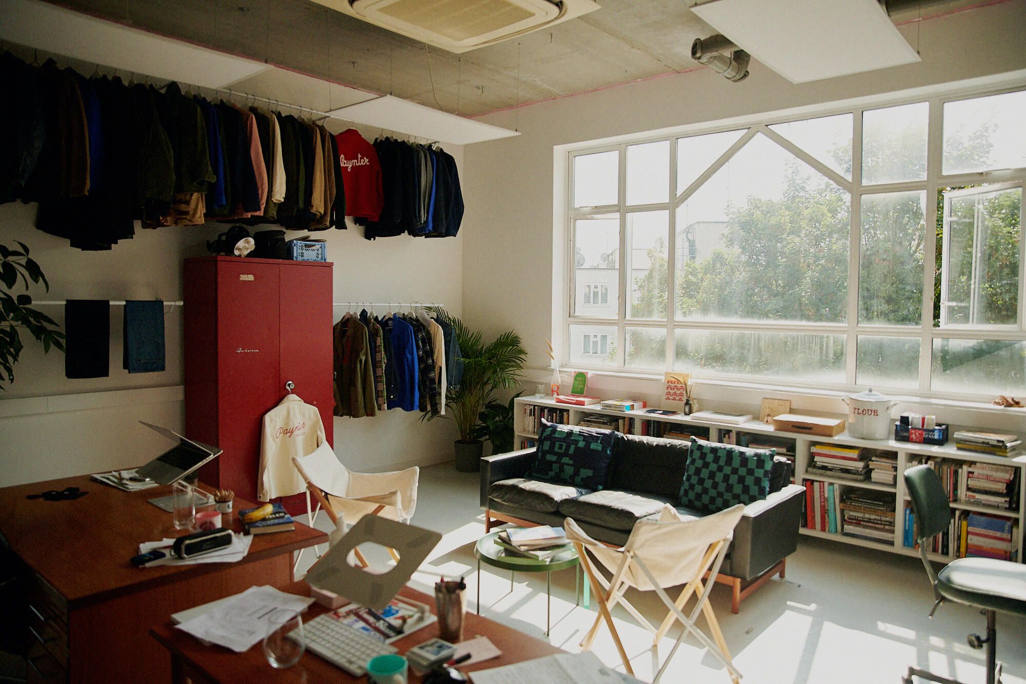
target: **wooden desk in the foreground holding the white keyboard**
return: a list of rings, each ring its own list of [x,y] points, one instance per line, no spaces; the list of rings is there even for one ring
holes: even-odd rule
[[[295,582],[280,588],[291,594],[309,596],[306,582]],[[431,612],[435,612],[435,598],[433,596],[428,596],[408,586],[400,590],[399,596],[426,603],[431,606]],[[324,612],[327,612],[327,609],[315,603],[304,613],[303,619],[307,621]],[[503,652],[498,658],[461,667],[460,670],[465,673],[488,670],[563,652],[548,642],[529,637],[487,617],[468,612],[465,619],[463,633],[465,639],[484,635]],[[293,667],[287,670],[274,670],[264,657],[264,651],[260,644],[245,653],[234,653],[220,646],[204,646],[192,635],[174,629],[169,620],[159,628],[151,630],[150,634],[171,653],[171,670],[174,673],[173,684],[186,684],[190,681],[192,684],[234,684],[236,682],[263,682],[272,679],[275,684],[366,681],[363,677],[350,676],[346,671],[336,668],[327,660],[309,651],[304,653]],[[400,654],[403,654],[412,646],[437,636],[438,623],[435,622],[400,639],[393,646],[399,649]],[[415,674],[412,670],[410,670],[409,675],[410,682],[421,681],[420,676]]]

